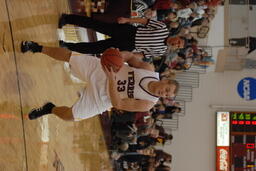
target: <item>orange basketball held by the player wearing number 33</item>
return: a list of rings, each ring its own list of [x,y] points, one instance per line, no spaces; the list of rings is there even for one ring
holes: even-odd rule
[[[123,66],[124,60],[118,49],[109,48],[105,50],[101,56],[101,64],[106,66],[109,70],[113,68],[114,72],[118,72]]]

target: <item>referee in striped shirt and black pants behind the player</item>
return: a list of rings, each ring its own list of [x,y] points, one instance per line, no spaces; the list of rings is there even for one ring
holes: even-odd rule
[[[138,27],[132,23],[141,24]],[[59,19],[59,28],[66,24],[73,24],[110,36],[106,40],[97,42],[67,43],[60,41],[60,46],[72,51],[98,54],[107,48],[115,47],[121,51],[138,52],[138,56],[144,61],[152,62],[154,57],[162,56],[169,46],[183,48],[184,40],[172,43],[167,26],[156,20],[146,18],[118,18],[118,23],[105,23],[86,16],[62,14]],[[177,39],[177,38],[176,38]]]

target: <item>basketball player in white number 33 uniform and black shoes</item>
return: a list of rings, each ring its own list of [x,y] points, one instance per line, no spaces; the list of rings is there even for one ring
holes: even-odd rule
[[[136,54],[121,52],[124,64],[117,73],[103,67],[99,58],[55,47],[45,47],[31,41],[21,43],[23,53],[41,52],[56,60],[69,62],[71,73],[88,82],[72,107],[46,103],[29,113],[29,119],[55,114],[63,120],[79,121],[93,117],[111,107],[126,111],[149,111],[159,97],[174,96],[179,84],[174,80],[159,80],[154,66],[139,60]],[[132,66],[132,67],[131,67]]]

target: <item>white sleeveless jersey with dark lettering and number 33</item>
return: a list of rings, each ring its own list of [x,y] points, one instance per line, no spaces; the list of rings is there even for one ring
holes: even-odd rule
[[[147,91],[147,86],[143,86],[142,84],[143,81],[159,81],[159,74],[157,72],[123,65],[116,74],[117,91],[120,97],[122,99],[133,98],[157,102],[158,97]]]

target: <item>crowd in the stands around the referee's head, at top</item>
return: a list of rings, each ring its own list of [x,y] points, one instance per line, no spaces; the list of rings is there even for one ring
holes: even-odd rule
[[[134,0],[137,1],[138,0]],[[182,48],[168,49],[161,57],[153,59],[157,71],[188,70],[192,65],[208,67],[213,59],[207,51],[199,47],[198,39],[205,38],[210,22],[216,14],[220,0],[139,0],[144,3],[142,16],[166,23],[169,36],[185,40]],[[145,9],[145,6],[147,9]],[[166,75],[166,74],[165,74]]]

